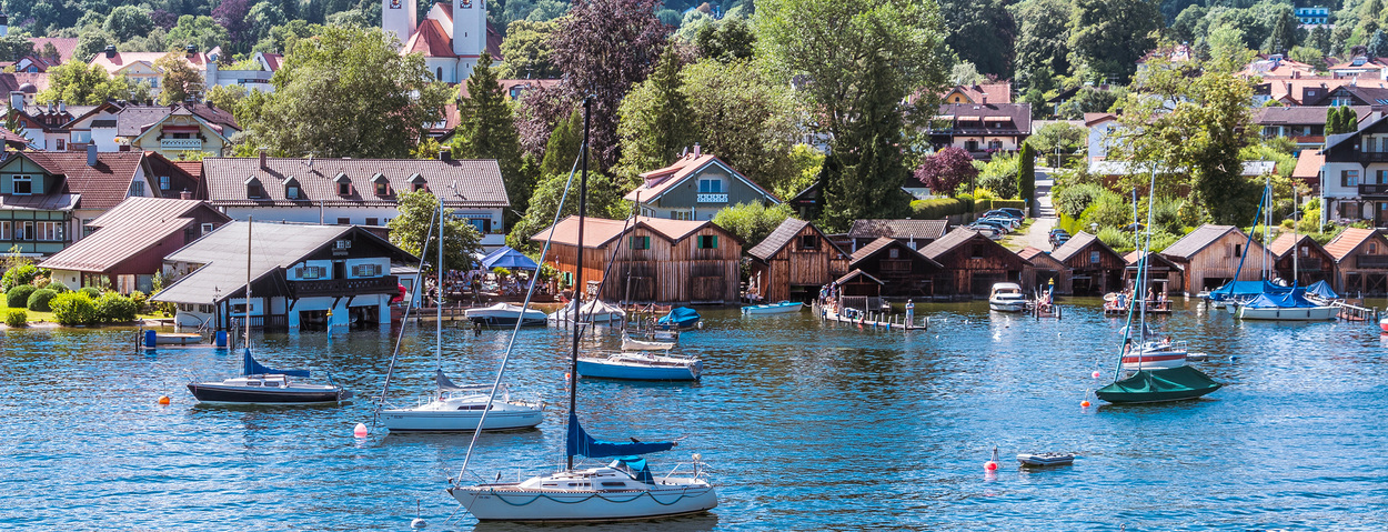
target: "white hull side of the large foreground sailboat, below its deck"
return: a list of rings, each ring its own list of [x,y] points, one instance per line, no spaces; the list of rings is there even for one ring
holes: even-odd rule
[[[514,486],[514,485],[509,485]],[[450,488],[477,521],[625,521],[697,514],[718,506],[713,486],[651,486],[648,490],[527,490],[489,485]]]

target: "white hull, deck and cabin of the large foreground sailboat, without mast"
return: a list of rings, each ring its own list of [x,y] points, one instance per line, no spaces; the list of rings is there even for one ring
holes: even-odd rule
[[[618,521],[694,514],[718,506],[698,454],[691,475],[651,474],[645,458],[565,469],[523,482],[450,488],[477,521]]]

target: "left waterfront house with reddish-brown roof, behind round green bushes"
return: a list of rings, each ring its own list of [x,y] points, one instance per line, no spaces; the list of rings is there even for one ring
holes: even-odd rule
[[[164,257],[229,222],[207,201],[128,197],[86,224],[92,233],[39,264],[68,288],[150,293]]]

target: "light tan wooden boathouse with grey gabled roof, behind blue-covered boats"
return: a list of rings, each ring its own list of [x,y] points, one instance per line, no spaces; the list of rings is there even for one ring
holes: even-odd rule
[[[1264,260],[1267,267],[1276,263],[1263,244],[1233,225],[1201,225],[1162,250],[1162,256],[1184,269],[1183,292],[1188,294],[1224,286],[1234,281],[1235,272],[1238,281],[1259,281]]]

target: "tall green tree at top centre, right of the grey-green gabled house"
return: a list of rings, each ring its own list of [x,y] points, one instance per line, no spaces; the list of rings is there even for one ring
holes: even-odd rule
[[[799,83],[815,131],[830,138],[820,169],[823,217],[845,221],[904,213],[906,96],[944,88],[940,14],[920,0],[766,0],[756,6],[758,56],[772,82]],[[929,99],[912,117],[931,117]]]

